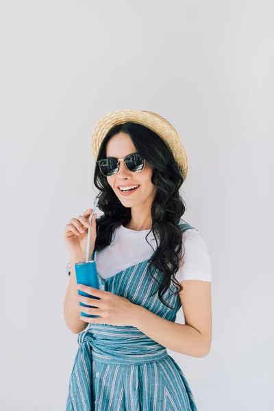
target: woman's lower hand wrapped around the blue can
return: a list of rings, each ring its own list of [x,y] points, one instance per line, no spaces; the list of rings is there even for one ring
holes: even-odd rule
[[[140,306],[132,303],[125,297],[121,297],[121,295],[113,294],[113,292],[97,290],[97,288],[85,286],[84,284],[77,284],[77,288],[86,292],[86,294],[99,297],[99,299],[95,299],[84,297],[84,295],[75,295],[75,301],[78,300],[87,306],[97,307],[88,308],[80,306],[78,302],[77,309],[79,312],[100,316],[99,318],[80,316],[79,318],[82,321],[92,324],[132,325],[132,327],[136,327]]]

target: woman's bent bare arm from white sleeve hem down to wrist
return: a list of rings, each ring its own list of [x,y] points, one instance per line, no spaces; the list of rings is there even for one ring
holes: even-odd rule
[[[168,349],[201,358],[210,352],[212,340],[211,282],[188,279],[181,284],[184,290],[179,296],[186,324],[173,323],[136,306],[134,327]]]

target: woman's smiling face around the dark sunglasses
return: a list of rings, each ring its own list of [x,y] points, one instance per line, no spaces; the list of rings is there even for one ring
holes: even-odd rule
[[[106,146],[107,157],[125,158],[126,155],[136,153],[136,151],[129,134],[123,132],[112,136]],[[151,183],[152,173],[153,169],[147,162],[145,162],[145,168],[142,171],[134,173],[134,171],[127,170],[125,163],[121,161],[116,175],[106,177],[106,179],[123,206],[133,207],[145,203],[145,206],[150,208],[156,192],[155,186]],[[123,196],[117,187],[120,185],[135,186],[136,184],[139,184],[140,187],[127,197]]]

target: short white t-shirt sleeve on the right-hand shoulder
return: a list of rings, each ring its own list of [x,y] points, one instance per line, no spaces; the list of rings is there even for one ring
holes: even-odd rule
[[[175,277],[178,282],[184,279],[199,279],[212,282],[211,260],[205,240],[197,229],[188,229],[183,234],[184,264]]]

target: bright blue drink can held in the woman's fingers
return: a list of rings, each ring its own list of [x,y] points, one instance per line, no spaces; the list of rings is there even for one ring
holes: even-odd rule
[[[76,282],[77,284],[84,284],[85,286],[90,286],[92,288],[97,288],[99,290],[99,280],[97,275],[97,266],[95,260],[90,260],[89,262],[77,262],[75,264],[75,275],[76,275]],[[94,295],[89,295],[82,290],[78,290],[79,295],[84,295],[84,297],[90,297],[99,299],[99,297],[95,297]],[[80,306],[89,307],[89,308],[97,308],[93,306],[87,306],[86,304],[80,301]],[[95,319],[99,318],[99,315],[91,315],[86,314],[86,312],[81,312],[82,316],[88,316]]]

